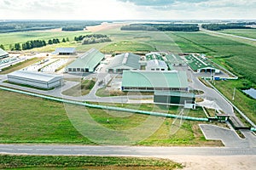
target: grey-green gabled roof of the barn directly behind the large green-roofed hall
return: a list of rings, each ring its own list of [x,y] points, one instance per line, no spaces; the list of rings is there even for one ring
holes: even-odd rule
[[[117,67],[122,67],[124,69],[140,69],[139,60],[141,57],[137,54],[119,54],[114,56],[111,63],[108,65],[108,69],[115,69]]]

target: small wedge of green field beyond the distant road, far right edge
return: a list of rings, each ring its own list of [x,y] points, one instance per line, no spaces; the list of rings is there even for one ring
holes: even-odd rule
[[[219,32],[256,39],[256,29],[230,29],[230,30],[228,29],[228,30],[219,31]]]

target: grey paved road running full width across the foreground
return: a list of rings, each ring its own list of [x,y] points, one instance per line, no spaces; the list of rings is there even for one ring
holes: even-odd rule
[[[256,148],[0,144],[0,154],[63,156],[248,156]]]

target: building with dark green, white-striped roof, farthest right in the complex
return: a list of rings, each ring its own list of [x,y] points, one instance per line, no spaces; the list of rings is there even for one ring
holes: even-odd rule
[[[190,54],[185,56],[188,60],[189,67],[196,72],[211,72],[220,73],[220,70],[212,65],[211,62],[203,55],[196,56],[195,54]]]

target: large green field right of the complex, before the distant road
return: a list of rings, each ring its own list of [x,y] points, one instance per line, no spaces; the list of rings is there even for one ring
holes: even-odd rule
[[[172,32],[170,37],[176,39],[183,52],[198,52],[212,55],[222,60],[231,71],[247,77],[256,83],[255,47],[224,37],[213,37],[204,32]]]

